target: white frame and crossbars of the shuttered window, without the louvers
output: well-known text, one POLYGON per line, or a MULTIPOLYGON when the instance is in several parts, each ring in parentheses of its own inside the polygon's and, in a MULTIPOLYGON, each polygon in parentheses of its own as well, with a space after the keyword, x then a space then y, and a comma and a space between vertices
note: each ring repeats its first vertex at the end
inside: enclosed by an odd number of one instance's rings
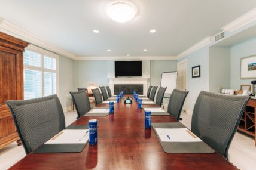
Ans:
POLYGON ((24 64, 24 68, 23 68, 23 72, 25 73, 25 69, 28 70, 36 70, 39 72, 42 72, 42 97, 44 97, 44 72, 48 72, 48 73, 56 73, 56 93, 59 96, 59 55, 44 50, 42 48, 39 48, 35 45, 28 45, 28 47, 25 48, 25 50, 28 51, 32 51, 32 52, 37 52, 39 54, 41 54, 41 67, 36 67, 36 66, 29 66, 29 65, 25 65, 24 64), (52 70, 52 69, 45 69, 44 68, 44 55, 47 55, 48 57, 52 57, 52 58, 56 58, 56 70, 52 70))

